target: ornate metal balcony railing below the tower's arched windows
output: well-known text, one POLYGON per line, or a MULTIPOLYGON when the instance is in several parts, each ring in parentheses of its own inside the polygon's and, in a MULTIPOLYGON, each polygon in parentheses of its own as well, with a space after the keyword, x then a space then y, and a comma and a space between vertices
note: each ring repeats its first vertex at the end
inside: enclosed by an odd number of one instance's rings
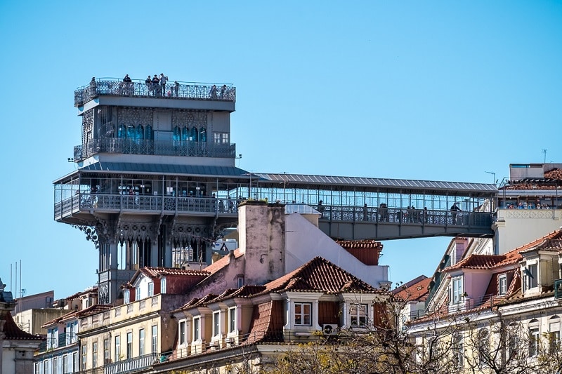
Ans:
POLYGON ((93 139, 74 147, 74 161, 83 161, 98 153, 155 154, 158 156, 195 156, 234 158, 234 144, 214 142, 133 140, 123 138, 93 139))

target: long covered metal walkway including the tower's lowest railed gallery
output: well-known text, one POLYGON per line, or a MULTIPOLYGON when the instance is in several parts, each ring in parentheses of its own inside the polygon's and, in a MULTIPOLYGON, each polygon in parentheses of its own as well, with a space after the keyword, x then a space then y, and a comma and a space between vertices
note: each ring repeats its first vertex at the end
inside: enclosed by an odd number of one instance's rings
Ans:
POLYGON ((170 175, 154 166, 150 172, 137 171, 144 173, 143 180, 135 180, 115 178, 118 168, 84 168, 55 182, 55 220, 84 225, 99 214, 188 215, 226 227, 235 225, 241 201, 260 199, 285 203, 287 209, 310 206, 320 213, 320 229, 334 239, 493 234, 497 188, 491 184, 263 174, 240 168, 170 175), (460 211, 450 210, 453 203, 460 211))

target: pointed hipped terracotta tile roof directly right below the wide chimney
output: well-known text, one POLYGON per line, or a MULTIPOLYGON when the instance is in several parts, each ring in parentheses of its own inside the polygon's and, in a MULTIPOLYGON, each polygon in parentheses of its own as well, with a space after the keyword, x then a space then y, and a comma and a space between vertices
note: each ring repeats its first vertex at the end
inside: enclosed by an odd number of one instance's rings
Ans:
POLYGON ((341 269, 341 267, 320 257, 313 258, 293 272, 266 283, 266 290, 263 290, 262 293, 289 290, 325 293, 381 292, 353 276, 353 274, 341 269))

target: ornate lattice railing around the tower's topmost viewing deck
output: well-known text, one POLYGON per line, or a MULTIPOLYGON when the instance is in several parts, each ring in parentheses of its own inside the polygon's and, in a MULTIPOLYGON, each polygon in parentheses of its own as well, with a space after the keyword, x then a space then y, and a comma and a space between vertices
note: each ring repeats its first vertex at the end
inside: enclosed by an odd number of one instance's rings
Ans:
POLYGON ((88 86, 74 91, 74 106, 102 95, 128 96, 135 98, 194 99, 214 101, 236 101, 236 88, 222 84, 181 83, 176 85, 147 84, 145 81, 125 83, 121 79, 97 79, 88 86))

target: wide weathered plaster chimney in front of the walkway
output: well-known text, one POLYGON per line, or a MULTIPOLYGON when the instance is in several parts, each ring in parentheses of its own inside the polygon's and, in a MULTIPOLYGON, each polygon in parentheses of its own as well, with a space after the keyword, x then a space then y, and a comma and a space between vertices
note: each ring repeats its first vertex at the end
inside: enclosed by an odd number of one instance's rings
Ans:
POLYGON ((244 283, 263 284, 285 274, 285 205, 248 200, 238 208, 244 283))

